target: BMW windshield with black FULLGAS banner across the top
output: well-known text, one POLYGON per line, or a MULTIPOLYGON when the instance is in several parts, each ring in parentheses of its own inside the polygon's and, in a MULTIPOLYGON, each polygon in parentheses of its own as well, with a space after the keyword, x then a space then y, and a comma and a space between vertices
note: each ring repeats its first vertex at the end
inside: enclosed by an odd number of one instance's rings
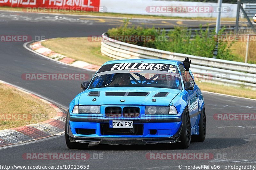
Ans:
POLYGON ((100 68, 89 89, 103 87, 158 87, 182 89, 176 66, 161 63, 118 63, 100 68))

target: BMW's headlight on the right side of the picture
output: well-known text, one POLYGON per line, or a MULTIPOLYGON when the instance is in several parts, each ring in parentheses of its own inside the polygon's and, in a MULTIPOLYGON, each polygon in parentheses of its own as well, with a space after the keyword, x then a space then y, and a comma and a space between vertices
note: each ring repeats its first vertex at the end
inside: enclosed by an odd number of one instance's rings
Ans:
POLYGON ((146 106, 145 114, 150 115, 175 115, 178 114, 174 106, 146 106))

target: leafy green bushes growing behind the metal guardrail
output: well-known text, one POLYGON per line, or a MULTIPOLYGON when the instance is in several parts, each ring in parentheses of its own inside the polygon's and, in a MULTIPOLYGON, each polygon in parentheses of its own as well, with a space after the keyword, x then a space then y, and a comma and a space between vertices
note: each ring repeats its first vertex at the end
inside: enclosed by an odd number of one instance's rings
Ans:
MULTIPOLYGON (((202 57, 213 57, 213 51, 216 46, 215 31, 209 29, 196 32, 194 37, 191 37, 191 30, 186 27, 175 27, 172 31, 166 32, 160 29, 143 28, 141 26, 128 27, 129 20, 124 20, 124 25, 108 30, 110 38, 135 44, 138 46, 156 48, 164 51, 176 53, 184 53, 202 57), (130 41, 124 39, 124 36, 149 36, 149 39, 140 41, 130 41)), ((222 28, 219 34, 223 34, 225 28, 222 28)), ((230 53, 230 46, 227 42, 218 42, 218 54, 216 58, 223 60, 237 60, 237 57, 230 53)))

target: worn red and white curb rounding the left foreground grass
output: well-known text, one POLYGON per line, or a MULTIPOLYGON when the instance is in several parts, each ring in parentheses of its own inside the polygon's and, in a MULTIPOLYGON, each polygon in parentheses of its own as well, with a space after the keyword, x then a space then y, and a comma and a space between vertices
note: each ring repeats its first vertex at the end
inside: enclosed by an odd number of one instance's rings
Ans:
POLYGON ((52 104, 44 100, 43 98, 29 93, 25 90, 12 86, 4 81, 0 81, 0 83, 11 86, 23 93, 36 97, 43 103, 51 105, 57 111, 56 117, 53 117, 44 122, 39 122, 36 124, 30 124, 12 129, 0 130, 0 147, 47 138, 53 135, 61 134, 65 131, 66 114, 63 113, 62 110, 55 104, 52 104))

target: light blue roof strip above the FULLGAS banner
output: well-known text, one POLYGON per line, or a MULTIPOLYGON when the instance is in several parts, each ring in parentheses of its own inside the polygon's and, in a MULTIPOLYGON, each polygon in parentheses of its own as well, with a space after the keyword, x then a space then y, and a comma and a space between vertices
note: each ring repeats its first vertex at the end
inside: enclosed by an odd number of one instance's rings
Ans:
POLYGON ((181 61, 176 60, 161 60, 161 59, 127 59, 127 60, 111 60, 105 62, 103 65, 107 64, 116 64, 116 63, 137 63, 137 62, 147 62, 147 63, 161 63, 161 64, 171 64, 178 66, 179 64, 182 64, 181 61))

